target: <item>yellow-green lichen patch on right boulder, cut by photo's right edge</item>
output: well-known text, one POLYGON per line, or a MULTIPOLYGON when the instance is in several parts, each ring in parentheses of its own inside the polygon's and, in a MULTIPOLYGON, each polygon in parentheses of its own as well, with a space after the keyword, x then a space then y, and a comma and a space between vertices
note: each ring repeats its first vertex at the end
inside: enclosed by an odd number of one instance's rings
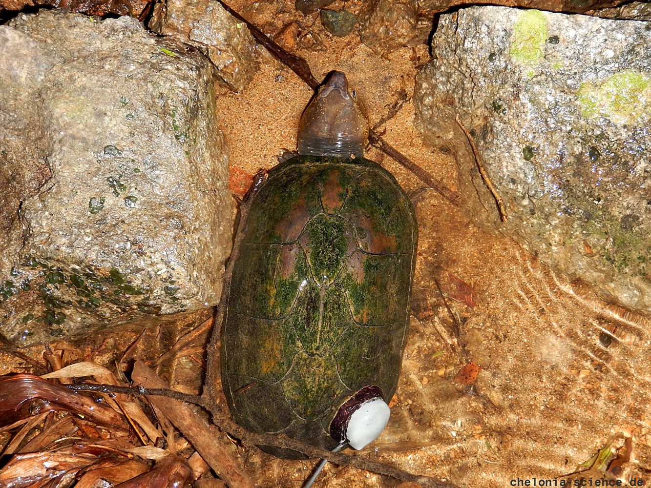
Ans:
POLYGON ((651 78, 626 70, 603 80, 581 83, 577 90, 585 118, 602 116, 615 124, 642 124, 651 118, 651 78))

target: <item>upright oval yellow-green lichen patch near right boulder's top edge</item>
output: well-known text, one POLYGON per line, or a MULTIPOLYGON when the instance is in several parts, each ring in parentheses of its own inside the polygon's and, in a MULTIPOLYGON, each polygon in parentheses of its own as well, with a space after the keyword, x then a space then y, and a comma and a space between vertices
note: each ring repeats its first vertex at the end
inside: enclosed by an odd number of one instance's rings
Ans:
POLYGON ((540 10, 525 10, 513 27, 510 55, 523 64, 537 64, 544 56, 547 18, 540 10))

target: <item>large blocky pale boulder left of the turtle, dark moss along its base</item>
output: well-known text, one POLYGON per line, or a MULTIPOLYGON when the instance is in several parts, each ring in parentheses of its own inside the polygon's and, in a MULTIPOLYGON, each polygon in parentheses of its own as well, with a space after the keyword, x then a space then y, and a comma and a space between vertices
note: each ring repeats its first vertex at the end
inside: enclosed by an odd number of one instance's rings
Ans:
POLYGON ((0 333, 22 344, 213 305, 232 199, 210 62, 135 19, 0 26, 0 333))

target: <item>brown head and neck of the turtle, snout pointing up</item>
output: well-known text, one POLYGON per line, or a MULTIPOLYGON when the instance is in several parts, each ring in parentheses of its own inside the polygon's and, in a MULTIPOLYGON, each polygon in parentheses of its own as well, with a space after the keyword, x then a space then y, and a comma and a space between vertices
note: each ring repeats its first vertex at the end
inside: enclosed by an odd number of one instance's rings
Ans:
POLYGON ((362 157, 367 139, 368 122, 357 94, 346 75, 333 71, 301 116, 298 154, 362 157))

